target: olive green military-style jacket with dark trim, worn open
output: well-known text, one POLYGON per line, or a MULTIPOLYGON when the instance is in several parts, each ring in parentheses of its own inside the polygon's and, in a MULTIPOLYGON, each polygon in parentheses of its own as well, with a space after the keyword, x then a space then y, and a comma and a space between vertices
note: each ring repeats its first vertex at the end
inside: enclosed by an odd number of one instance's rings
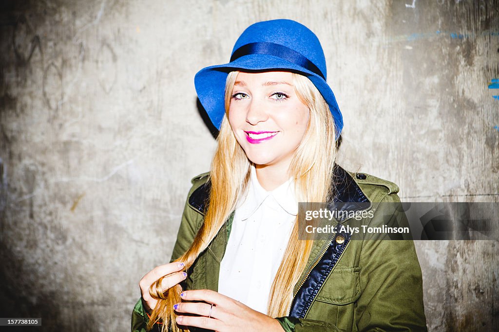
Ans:
MULTIPOLYGON (((203 223, 210 190, 208 175, 192 180, 172 259, 189 248, 203 223)), ((360 202, 359 207, 350 208, 373 211, 372 218, 362 219, 361 224, 407 225, 403 210, 394 208, 400 203, 394 183, 346 172, 339 166, 333 178, 337 202, 360 202), (385 204, 390 202, 394 204, 385 204)), ((233 216, 188 271, 187 289, 218 290, 220 261, 233 216)), ((341 224, 358 225, 359 221, 347 218, 341 224)), ((276 318, 284 331, 427 331, 421 268, 412 240, 380 240, 368 233, 354 234, 352 239, 348 232, 336 232, 314 240, 307 265, 295 285, 288 316, 276 318)), ((132 331, 146 331, 147 321, 139 300, 133 310, 132 331)))

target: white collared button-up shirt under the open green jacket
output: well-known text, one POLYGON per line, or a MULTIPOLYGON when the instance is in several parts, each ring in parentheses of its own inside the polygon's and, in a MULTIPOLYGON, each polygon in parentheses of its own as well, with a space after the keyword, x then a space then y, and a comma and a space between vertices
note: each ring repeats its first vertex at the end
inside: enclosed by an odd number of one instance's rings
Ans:
POLYGON ((239 200, 220 264, 219 293, 267 313, 268 296, 298 213, 294 182, 268 192, 254 166, 246 195, 239 200))

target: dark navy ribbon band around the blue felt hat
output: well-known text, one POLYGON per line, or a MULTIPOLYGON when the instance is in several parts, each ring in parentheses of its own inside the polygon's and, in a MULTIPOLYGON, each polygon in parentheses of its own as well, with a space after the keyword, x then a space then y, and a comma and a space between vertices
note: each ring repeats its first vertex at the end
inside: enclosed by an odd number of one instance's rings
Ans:
POLYGON ((308 60, 295 50, 290 49, 289 47, 275 43, 261 41, 243 45, 236 51, 234 51, 231 57, 231 62, 241 58, 242 56, 250 54, 266 54, 276 56, 283 60, 294 63, 295 65, 298 65, 302 68, 305 68, 306 70, 311 71, 312 73, 315 73, 326 80, 325 75, 323 75, 320 69, 317 68, 317 66, 314 65, 310 60, 308 60))

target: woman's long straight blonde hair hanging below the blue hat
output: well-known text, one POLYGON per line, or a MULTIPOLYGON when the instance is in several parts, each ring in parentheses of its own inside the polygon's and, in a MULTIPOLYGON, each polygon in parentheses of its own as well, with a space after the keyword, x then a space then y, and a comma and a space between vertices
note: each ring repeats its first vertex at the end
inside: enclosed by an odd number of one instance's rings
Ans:
MULTIPOLYGON (((176 262, 184 262, 186 268, 208 247, 230 214, 238 198, 244 193, 250 177, 250 161, 239 145, 228 120, 231 94, 239 72, 230 72, 225 92, 226 116, 217 138, 218 147, 211 165, 210 204, 204 223, 191 247, 176 262)), ((298 145, 289 167, 289 176, 295 181, 298 202, 325 202, 332 194, 332 169, 336 157, 336 127, 324 98, 305 76, 293 73, 295 92, 300 101, 310 109, 310 117, 302 141, 298 145)), ((269 294, 267 313, 270 317, 282 317, 289 313, 293 288, 306 268, 312 240, 298 239, 298 222, 294 223, 284 257, 277 270, 269 294)), ((181 302, 182 288, 176 285, 167 292, 166 299, 158 300, 149 324, 162 320, 162 331, 171 328, 183 331, 175 323, 173 305, 181 302)))

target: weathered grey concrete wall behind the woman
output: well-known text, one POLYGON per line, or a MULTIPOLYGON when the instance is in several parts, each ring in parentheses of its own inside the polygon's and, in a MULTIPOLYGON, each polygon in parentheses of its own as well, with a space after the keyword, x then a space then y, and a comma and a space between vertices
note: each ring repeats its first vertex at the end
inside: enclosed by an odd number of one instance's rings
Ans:
MULTIPOLYGON (((499 201, 499 2, 0 4, 0 316, 127 331, 169 260, 215 142, 193 78, 242 30, 292 18, 322 41, 340 163, 404 201, 499 201), (494 97, 496 96, 496 97, 494 97)), ((498 243, 418 242, 431 331, 498 331, 498 243)))

